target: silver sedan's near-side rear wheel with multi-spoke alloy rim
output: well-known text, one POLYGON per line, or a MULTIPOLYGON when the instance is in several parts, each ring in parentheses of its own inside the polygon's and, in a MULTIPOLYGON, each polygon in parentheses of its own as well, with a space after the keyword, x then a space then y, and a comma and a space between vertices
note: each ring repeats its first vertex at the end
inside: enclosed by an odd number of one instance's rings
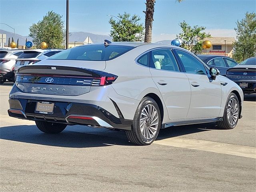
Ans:
POLYGON ((158 104, 154 99, 145 97, 138 105, 131 130, 126 130, 126 136, 136 145, 150 145, 156 140, 161 123, 158 104))

